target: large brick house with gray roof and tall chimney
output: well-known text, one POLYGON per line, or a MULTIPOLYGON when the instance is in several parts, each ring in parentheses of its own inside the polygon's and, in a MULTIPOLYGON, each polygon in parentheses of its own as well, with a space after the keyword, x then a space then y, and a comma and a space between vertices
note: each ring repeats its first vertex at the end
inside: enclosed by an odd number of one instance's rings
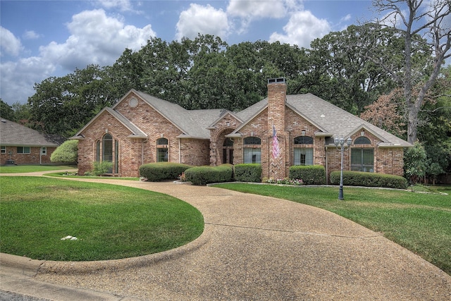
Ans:
POLYGON ((171 161, 259 163, 263 177, 285 178, 292 165, 320 164, 327 175, 340 170, 335 137, 352 139, 345 170, 402 176, 404 148, 412 145, 313 94, 286 95, 284 78, 268 80, 268 97, 240 112, 185 110, 130 90, 70 139, 79 140, 80 175, 94 161, 113 162, 114 176, 139 176, 142 164, 171 161))

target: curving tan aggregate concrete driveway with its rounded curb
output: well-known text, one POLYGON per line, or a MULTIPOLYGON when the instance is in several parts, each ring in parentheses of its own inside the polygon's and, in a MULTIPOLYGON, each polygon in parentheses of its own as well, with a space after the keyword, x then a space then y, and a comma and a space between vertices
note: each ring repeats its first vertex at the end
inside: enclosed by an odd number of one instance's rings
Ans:
MULTIPOLYGON (((450 276, 328 211, 219 188, 94 181, 183 199, 202 212, 205 231, 188 245, 144 257, 32 261, 31 269, 16 269, 25 280, 93 294, 78 300, 451 300, 450 276)), ((15 291, 5 287, 1 257, 0 289, 15 291)))

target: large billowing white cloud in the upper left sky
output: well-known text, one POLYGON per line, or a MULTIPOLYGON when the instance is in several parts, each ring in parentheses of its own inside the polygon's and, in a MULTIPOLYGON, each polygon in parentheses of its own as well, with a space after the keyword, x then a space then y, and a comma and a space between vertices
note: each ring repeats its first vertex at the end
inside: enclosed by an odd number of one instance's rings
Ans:
POLYGON ((39 51, 43 58, 68 70, 85 68, 91 63, 111 65, 125 48, 140 49, 156 35, 151 25, 143 28, 124 25, 122 20, 106 16, 102 9, 78 13, 67 26, 71 35, 66 42, 51 42, 39 51))

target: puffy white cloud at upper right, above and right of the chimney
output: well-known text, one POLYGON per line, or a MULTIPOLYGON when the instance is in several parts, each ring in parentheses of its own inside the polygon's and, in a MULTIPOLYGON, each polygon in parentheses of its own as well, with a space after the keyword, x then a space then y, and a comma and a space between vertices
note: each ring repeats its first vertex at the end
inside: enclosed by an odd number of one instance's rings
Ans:
POLYGON ((273 32, 269 42, 296 44, 299 47, 310 47, 310 42, 330 32, 327 20, 316 18, 310 11, 292 13, 287 25, 283 27, 285 34, 273 32))

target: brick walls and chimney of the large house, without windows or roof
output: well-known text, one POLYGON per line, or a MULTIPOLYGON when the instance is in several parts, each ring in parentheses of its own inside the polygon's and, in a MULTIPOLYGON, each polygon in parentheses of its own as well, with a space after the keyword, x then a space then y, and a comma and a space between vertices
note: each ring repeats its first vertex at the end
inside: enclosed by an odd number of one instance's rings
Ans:
MULTIPOLYGON (((295 164, 295 149, 308 148, 309 152, 311 149, 313 153, 313 164, 325 166, 328 177, 331 171, 339 171, 340 151, 331 142, 336 135, 328 133, 321 128, 322 125, 312 122, 311 119, 304 118, 299 113, 304 106, 298 105, 296 107, 298 111, 291 109, 292 106, 288 106, 286 99, 285 80, 268 81, 266 106, 257 106, 254 115, 250 117, 247 112, 245 116, 248 120, 240 120, 240 113, 223 113, 214 124, 204 127, 209 130, 209 137, 203 138, 187 135, 185 130, 171 120, 167 111, 166 115, 162 114, 155 109, 152 99, 144 99, 142 95, 132 90, 113 109, 145 133, 145 136, 132 137, 130 127, 128 128, 124 121, 119 121, 122 117, 118 118, 112 116, 109 111, 103 111, 75 137, 80 140, 79 173, 82 175, 92 169, 97 154, 103 152, 101 141, 106 133, 113 137, 113 163, 116 164, 118 161, 117 171, 113 172, 115 176, 139 176, 139 166, 157 161, 160 147, 167 148, 168 161, 192 166, 217 166, 229 162, 241 164, 244 162, 245 148, 259 148, 262 176, 278 179, 288 177, 290 166, 295 164), (134 105, 130 105, 129 102, 132 98, 137 99, 134 105), (276 129, 280 149, 276 157, 272 155, 273 128, 276 129), (313 143, 295 144, 295 138, 302 136, 308 137, 313 143), (258 137, 261 145, 243 145, 243 140, 247 137, 258 137), (157 145, 160 138, 166 138, 168 145, 157 145)), ((162 101, 159 102, 161 105, 162 101)), ((307 106, 308 104, 306 103, 307 106)), ((178 122, 183 123, 180 119, 178 122)), ((364 121, 361 124, 363 123, 364 121)), ((362 128, 350 134, 353 143, 345 150, 344 169, 351 169, 351 149, 369 147, 373 149, 374 172, 402 176, 403 147, 384 142, 378 135, 371 133, 368 126, 362 125, 362 128), (371 143, 354 145, 358 137, 366 137, 371 143)))

